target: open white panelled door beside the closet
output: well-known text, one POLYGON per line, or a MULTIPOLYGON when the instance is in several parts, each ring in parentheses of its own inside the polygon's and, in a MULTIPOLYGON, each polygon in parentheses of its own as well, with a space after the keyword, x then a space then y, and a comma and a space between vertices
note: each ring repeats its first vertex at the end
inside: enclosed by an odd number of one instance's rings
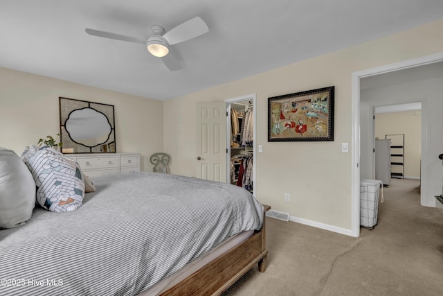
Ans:
POLYGON ((196 176, 226 183, 226 103, 197 103, 196 176))

